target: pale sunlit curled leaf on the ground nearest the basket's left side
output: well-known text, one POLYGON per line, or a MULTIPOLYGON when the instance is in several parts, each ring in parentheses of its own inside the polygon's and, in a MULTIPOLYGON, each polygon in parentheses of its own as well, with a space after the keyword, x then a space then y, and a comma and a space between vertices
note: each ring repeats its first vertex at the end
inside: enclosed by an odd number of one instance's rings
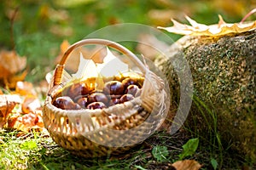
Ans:
POLYGON ((22 113, 35 113, 41 110, 41 104, 39 99, 33 95, 27 95, 21 105, 22 113))

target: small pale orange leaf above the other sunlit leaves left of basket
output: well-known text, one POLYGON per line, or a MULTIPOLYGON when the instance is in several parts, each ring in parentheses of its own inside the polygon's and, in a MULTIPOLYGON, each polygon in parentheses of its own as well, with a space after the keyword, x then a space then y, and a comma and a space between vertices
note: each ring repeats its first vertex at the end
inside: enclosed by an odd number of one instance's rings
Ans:
POLYGON ((20 95, 37 95, 31 82, 16 82, 15 92, 20 95))

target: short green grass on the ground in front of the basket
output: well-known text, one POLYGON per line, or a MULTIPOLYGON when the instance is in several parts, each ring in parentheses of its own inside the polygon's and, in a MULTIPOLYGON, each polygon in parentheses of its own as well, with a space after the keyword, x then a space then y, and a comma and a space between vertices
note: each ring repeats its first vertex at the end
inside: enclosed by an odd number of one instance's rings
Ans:
POLYGON ((1 169, 142 169, 174 162, 182 153, 183 145, 183 137, 159 132, 124 155, 81 159, 42 133, 28 133, 20 137, 17 134, 16 131, 3 130, 0 133, 3 140, 0 144, 1 169), (168 155, 165 160, 158 160, 152 154, 154 146, 160 145, 166 145, 168 155))

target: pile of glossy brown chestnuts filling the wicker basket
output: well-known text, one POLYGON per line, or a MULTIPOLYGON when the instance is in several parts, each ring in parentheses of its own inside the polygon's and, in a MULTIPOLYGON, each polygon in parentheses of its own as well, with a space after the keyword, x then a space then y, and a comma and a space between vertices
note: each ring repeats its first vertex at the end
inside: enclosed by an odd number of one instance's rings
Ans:
POLYGON ((103 109, 122 104, 141 94, 143 77, 113 78, 96 90, 95 80, 76 82, 64 88, 53 99, 53 105, 62 110, 103 109))

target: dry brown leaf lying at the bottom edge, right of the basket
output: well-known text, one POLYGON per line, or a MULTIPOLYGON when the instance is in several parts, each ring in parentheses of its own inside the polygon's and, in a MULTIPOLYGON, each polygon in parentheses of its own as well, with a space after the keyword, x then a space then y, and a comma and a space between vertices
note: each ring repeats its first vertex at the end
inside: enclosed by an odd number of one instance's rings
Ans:
POLYGON ((172 163, 172 166, 177 170, 198 170, 202 166, 195 160, 183 160, 172 163))

